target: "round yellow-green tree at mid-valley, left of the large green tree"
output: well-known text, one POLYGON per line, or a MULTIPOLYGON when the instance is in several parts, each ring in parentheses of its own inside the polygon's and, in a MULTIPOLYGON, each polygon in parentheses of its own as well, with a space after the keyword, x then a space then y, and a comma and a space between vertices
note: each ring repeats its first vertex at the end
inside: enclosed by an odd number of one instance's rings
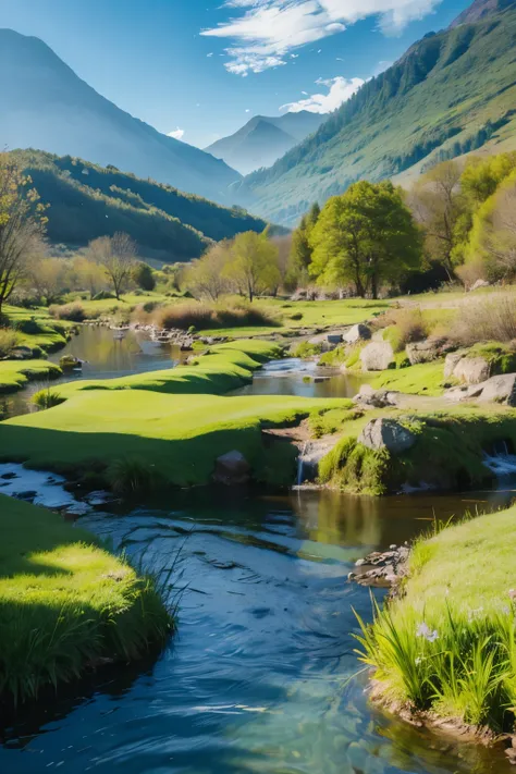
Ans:
POLYGON ((245 231, 233 239, 225 277, 238 293, 253 302, 258 293, 279 285, 278 255, 278 247, 267 238, 267 234, 245 231))

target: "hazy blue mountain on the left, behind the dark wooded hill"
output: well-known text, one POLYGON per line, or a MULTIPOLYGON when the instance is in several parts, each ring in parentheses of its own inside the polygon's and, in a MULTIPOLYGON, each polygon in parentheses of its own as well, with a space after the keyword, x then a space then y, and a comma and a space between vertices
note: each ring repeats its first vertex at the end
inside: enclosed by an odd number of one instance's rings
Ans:
POLYGON ((42 40, 0 29, 0 147, 42 148, 114 164, 217 201, 235 170, 157 132, 101 97, 42 40))

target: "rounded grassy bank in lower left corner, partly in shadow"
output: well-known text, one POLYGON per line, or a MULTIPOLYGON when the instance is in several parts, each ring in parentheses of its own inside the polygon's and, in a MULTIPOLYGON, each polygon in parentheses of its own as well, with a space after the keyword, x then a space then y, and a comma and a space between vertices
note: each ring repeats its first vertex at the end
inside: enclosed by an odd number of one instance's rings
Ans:
POLYGON ((172 621, 149 578, 46 508, 0 495, 0 696, 22 701, 99 659, 135 659, 172 621))

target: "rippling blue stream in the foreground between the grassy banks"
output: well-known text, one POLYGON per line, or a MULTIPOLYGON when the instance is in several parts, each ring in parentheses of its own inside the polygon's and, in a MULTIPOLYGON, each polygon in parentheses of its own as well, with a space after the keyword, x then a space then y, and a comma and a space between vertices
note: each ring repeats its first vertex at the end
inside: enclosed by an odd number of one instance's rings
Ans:
MULTIPOLYGON (((146 357, 163 367, 140 348, 138 364, 146 357)), ((270 364, 256 392, 327 384, 304 381, 312 366, 303 366, 308 373, 298 363, 270 364)), ((137 566, 162 577, 174 566, 177 634, 158 656, 106 667, 20 711, 0 730, 0 772, 508 774, 502 752, 368 704, 353 634, 354 610, 370 618, 371 600, 347 575, 357 558, 410 540, 434 517, 513 496, 507 483, 466 495, 197 489, 145 507, 93 503, 77 524, 137 566)))

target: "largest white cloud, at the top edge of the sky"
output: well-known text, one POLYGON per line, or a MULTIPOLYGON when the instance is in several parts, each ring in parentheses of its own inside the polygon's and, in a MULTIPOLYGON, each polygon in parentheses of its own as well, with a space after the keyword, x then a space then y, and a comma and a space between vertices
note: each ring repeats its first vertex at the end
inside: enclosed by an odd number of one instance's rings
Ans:
POLYGON ((248 75, 286 64, 291 51, 344 32, 346 25, 380 16, 386 35, 400 33, 408 22, 422 19, 442 0, 226 0, 224 7, 241 15, 201 35, 228 38, 230 73, 248 75))

